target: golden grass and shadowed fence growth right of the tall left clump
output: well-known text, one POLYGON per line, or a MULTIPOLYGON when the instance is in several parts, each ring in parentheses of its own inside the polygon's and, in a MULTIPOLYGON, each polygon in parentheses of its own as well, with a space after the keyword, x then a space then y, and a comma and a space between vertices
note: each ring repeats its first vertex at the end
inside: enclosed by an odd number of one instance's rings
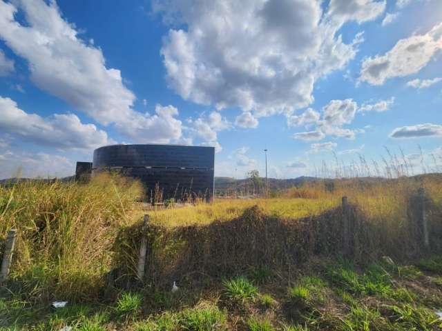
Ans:
POLYGON ((119 237, 119 261, 135 270, 140 236, 149 239, 148 277, 158 283, 203 272, 212 277, 260 263, 290 270, 321 255, 343 254, 342 197, 354 227, 349 258, 394 261, 442 250, 442 176, 398 179, 336 179, 306 183, 277 199, 222 199, 212 204, 155 210, 147 233, 140 225, 119 237), (430 249, 419 223, 419 188, 426 192, 430 249))

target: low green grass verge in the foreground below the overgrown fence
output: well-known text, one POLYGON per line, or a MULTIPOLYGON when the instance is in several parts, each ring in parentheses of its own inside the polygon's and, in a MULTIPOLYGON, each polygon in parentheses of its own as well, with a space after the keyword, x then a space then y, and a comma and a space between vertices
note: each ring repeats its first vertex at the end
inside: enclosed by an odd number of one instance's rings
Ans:
POLYGON ((265 267, 198 288, 137 288, 57 310, 0 299, 1 330, 441 330, 442 257, 416 265, 313 261, 293 279, 265 267))

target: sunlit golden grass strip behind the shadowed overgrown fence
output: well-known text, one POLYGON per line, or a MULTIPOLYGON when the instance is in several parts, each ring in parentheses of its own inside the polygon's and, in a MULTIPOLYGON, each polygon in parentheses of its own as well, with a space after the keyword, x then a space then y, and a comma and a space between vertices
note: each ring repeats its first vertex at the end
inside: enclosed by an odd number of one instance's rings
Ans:
MULTIPOLYGON (((398 225, 407 217, 407 205, 420 187, 436 205, 442 204, 442 180, 428 177, 421 180, 403 178, 394 180, 345 179, 309 183, 301 188, 291 188, 273 199, 215 199, 213 203, 198 203, 185 207, 148 211, 151 222, 167 227, 207 225, 213 221, 230 221, 240 217, 244 209, 258 205, 266 214, 282 219, 300 219, 316 216, 336 208, 343 196, 358 205, 372 221, 398 225)), ((135 218, 144 213, 139 210, 135 218)))

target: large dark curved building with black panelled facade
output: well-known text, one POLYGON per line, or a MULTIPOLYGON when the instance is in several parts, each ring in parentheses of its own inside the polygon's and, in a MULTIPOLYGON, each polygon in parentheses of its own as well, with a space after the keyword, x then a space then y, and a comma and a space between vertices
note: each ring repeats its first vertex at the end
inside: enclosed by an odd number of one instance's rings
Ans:
POLYGON ((213 199, 215 148, 113 145, 97 148, 93 174, 116 170, 142 181, 149 199, 213 199))

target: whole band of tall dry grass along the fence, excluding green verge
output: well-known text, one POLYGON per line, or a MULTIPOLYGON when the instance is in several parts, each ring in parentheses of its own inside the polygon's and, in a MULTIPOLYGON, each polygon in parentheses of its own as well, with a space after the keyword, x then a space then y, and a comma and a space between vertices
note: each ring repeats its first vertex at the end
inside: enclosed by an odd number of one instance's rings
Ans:
MULTIPOLYGON (((339 254, 343 196, 357 213, 356 258, 413 257, 421 244, 410 201, 421 187, 427 192, 432 248, 441 248, 440 175, 324 180, 274 199, 151 210, 147 268, 169 281, 202 268, 217 274, 248 267, 241 261, 286 268, 312 254, 339 254)), ((18 230, 10 290, 32 299, 96 299, 112 268, 124 269, 126 263, 126 271, 135 272, 144 235, 137 220, 146 210, 134 202, 142 193, 137 181, 111 174, 85 185, 20 181, 0 187, 0 254, 7 230, 18 230)))

